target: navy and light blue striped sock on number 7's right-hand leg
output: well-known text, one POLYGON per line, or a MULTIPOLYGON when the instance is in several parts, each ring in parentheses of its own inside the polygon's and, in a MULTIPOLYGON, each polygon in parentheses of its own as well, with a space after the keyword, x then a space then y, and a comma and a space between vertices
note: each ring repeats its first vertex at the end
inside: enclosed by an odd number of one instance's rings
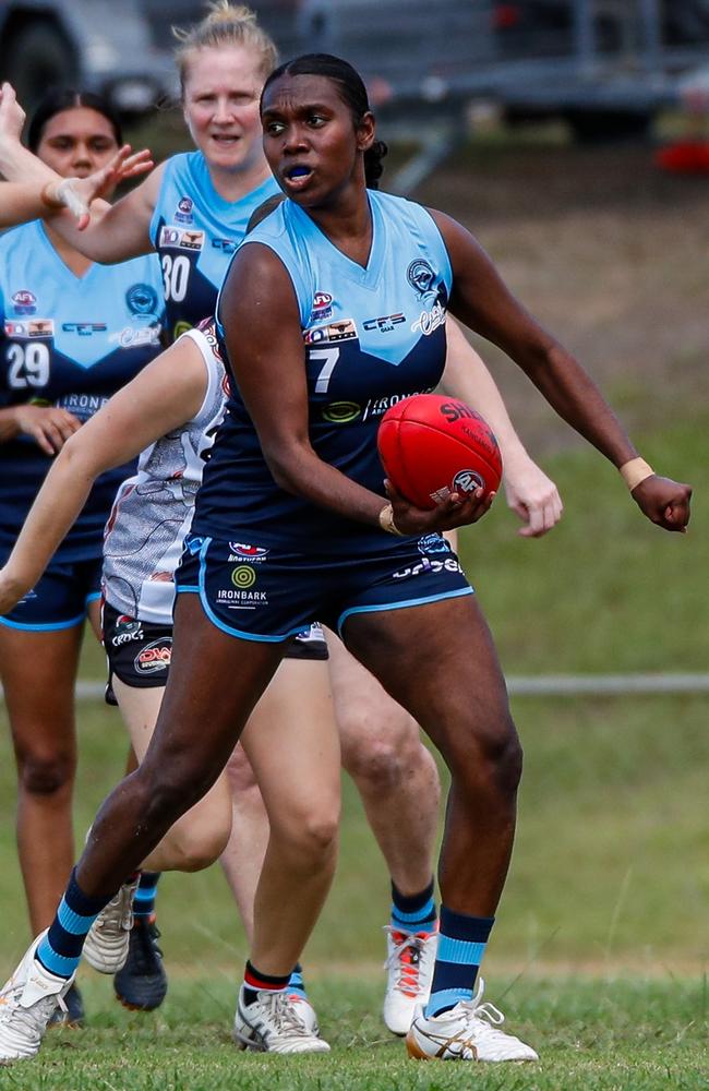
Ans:
POLYGON ((494 916, 467 916, 441 907, 438 950, 425 1016, 437 1016, 471 1000, 494 916))

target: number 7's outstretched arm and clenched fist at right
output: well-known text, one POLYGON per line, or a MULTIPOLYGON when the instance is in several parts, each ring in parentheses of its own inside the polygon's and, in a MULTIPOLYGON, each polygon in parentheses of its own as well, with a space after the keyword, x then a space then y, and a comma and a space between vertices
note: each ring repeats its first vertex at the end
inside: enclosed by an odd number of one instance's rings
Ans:
MULTIPOLYGON (((635 461, 638 459, 636 448, 580 363, 515 299, 469 231, 444 213, 432 212, 432 216, 445 241, 453 268, 452 313, 502 348, 560 417, 614 466, 618 469, 629 464, 639 466, 635 461)), ((632 484, 632 495, 652 523, 665 530, 686 528, 692 496, 689 485, 650 471, 632 484)))

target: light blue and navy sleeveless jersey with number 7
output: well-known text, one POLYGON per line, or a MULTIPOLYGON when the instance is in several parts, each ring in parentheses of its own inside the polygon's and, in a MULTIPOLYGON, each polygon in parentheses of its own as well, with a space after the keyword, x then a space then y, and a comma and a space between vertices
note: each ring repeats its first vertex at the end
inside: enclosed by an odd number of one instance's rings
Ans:
MULTIPOLYGON (((443 373, 452 271, 443 238, 424 208, 378 192, 369 197, 373 238, 366 268, 337 250, 291 201, 242 245, 269 247, 292 280, 315 453, 383 496, 376 430, 389 406, 432 391, 443 373)), ((275 311, 273 321, 278 321, 275 311)), ((381 551, 385 536, 378 528, 278 488, 233 376, 231 387, 192 532, 229 538, 239 530, 260 544, 286 541, 319 552, 381 551)), ((277 404, 272 412, 278 412, 277 404)))

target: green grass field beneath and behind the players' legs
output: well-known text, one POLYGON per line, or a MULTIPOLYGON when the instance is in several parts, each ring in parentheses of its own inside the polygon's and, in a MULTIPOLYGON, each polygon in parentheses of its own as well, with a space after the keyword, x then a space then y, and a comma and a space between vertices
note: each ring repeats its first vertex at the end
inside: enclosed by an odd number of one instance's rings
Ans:
MULTIPOLYGON (((466 531, 466 564, 510 673, 707 669, 708 421, 701 423, 644 437, 650 459, 698 487, 686 537, 646 525, 603 460, 577 451, 546 467, 567 503, 552 536, 516 539, 500 501, 466 531)), ((88 644, 84 673, 101 671, 88 644)), ((164 1009, 130 1015, 109 982, 83 971, 89 1027, 53 1033, 36 1062, 0 1071, 0 1088, 706 1088, 708 704, 699 695, 513 703, 526 750, 520 823, 484 973, 491 999, 540 1050, 540 1066, 471 1074, 467 1066, 417 1065, 386 1035, 378 1008, 387 882, 345 782, 340 864, 304 959, 331 1057, 235 1051, 229 1027, 247 950, 213 867, 163 879, 171 976, 164 1009)), ((120 777, 125 752, 115 710, 85 704, 80 720, 79 835, 120 777)), ((0 975, 28 938, 14 798, 3 727, 0 975)))

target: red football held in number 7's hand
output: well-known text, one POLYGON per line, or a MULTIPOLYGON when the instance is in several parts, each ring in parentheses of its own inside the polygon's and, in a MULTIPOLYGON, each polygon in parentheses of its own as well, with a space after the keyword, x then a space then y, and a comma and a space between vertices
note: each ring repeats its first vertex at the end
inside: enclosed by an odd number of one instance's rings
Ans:
POLYGON ((417 507, 435 507, 452 492, 500 488, 497 441, 480 413, 458 398, 404 398, 382 417, 376 442, 387 478, 417 507))

